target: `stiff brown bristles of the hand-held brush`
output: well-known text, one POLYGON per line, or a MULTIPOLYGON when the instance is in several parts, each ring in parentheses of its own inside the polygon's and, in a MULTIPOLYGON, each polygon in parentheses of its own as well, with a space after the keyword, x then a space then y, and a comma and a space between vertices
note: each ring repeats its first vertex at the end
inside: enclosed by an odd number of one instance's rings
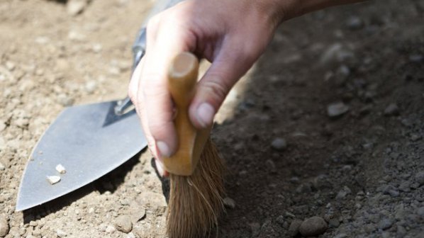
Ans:
POLYGON ((225 166, 209 138, 191 176, 170 175, 169 238, 206 237, 223 212, 225 166))

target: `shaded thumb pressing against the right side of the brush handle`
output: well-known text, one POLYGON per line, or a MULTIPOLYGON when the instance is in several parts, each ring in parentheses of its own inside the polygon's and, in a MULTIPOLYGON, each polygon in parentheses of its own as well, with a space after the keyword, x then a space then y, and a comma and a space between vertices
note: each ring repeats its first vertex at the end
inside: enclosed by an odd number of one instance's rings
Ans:
POLYGON ((213 117, 230 89, 252 67, 253 62, 251 55, 240 45, 223 44, 211 67, 197 84, 196 94, 191 101, 189 116, 196 128, 212 125, 213 117))

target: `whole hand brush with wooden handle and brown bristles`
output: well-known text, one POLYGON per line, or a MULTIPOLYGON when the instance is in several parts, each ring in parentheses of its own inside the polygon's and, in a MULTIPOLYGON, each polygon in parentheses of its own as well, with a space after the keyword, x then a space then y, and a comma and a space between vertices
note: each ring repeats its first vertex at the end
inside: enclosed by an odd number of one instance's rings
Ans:
POLYGON ((198 71, 197 57, 183 52, 174 58, 168 72, 167 84, 177 108, 174 125, 179 142, 177 152, 164 158, 170 179, 169 238, 207 237, 213 227, 218 227, 218 217, 224 210, 225 166, 209 137, 211 128, 196 130, 189 119, 198 71))

